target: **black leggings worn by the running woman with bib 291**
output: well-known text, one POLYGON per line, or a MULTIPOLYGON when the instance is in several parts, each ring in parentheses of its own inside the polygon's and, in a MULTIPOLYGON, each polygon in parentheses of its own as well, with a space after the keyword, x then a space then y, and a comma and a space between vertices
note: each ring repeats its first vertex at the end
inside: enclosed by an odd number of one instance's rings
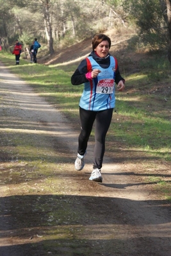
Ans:
POLYGON ((84 155, 88 144, 90 133, 95 121, 95 147, 94 147, 94 169, 102 167, 102 160, 105 151, 105 138, 110 127, 113 108, 102 111, 90 111, 79 107, 81 120, 81 132, 78 137, 77 152, 84 155))

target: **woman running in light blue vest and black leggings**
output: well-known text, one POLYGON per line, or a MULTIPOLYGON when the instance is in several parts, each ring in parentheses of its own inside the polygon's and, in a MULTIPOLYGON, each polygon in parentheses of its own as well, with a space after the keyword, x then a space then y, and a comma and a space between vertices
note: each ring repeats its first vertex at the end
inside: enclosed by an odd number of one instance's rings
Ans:
POLYGON ((106 133, 115 108, 115 83, 118 91, 125 88, 125 80, 120 75, 117 59, 109 53, 110 47, 110 37, 104 34, 95 35, 92 39, 92 53, 81 61, 71 77, 72 85, 85 85, 79 101, 81 132, 75 167, 80 171, 85 166, 86 148, 95 121, 94 164, 89 178, 95 182, 102 182, 101 168, 106 133))

